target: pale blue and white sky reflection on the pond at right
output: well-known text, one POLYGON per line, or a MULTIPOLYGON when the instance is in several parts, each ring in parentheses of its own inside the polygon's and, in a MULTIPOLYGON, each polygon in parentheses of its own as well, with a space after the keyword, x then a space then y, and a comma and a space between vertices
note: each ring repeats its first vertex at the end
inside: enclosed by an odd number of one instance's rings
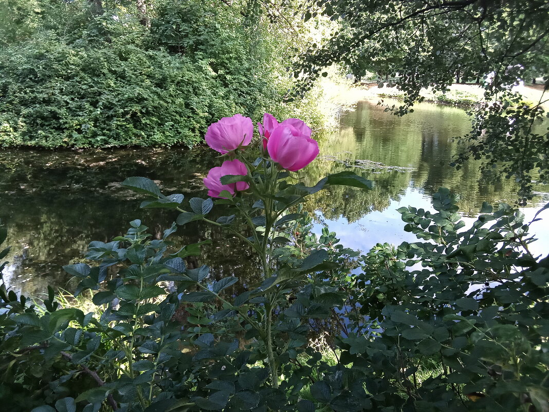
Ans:
MULTIPOLYGON (((408 188, 402 194, 400 201, 391 200, 389 207, 383 211, 371 211, 352 223, 349 223, 343 216, 340 216, 337 220, 325 219, 325 221, 330 230, 337 234, 343 246, 367 252, 376 243, 386 242, 399 245, 402 242, 418 241, 412 233, 404 231, 405 222, 402 221, 400 213, 396 211, 396 209, 403 206, 413 206, 418 209, 430 210, 433 213, 436 212, 430 199, 425 197, 421 190, 408 188)), ((524 221, 526 223, 530 222, 540 207, 521 208, 520 210, 525 215, 524 221)), ((320 211, 316 213, 322 216, 320 211)), ((543 255, 545 257, 549 253, 549 210, 543 211, 538 217, 542 220, 534 222, 530 226, 530 233, 536 236, 537 241, 531 244, 529 248, 534 256, 543 255)), ((467 217, 462 217, 462 219, 466 223, 466 228, 470 227, 476 220, 467 217)), ((486 227, 489 227, 489 224, 486 227)), ((320 235, 321 231, 322 225, 315 224, 313 232, 320 235)))

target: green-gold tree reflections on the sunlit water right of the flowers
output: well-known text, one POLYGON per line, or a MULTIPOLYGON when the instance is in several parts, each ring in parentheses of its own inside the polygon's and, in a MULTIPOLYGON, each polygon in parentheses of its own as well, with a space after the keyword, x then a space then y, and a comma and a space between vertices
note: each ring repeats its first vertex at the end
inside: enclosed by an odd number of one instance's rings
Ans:
MULTIPOLYGON (((386 101, 385 103, 389 103, 386 101)), ((392 104, 389 103, 389 104, 392 104)), ((360 102, 355 112, 341 119, 339 133, 324 138, 321 154, 335 154, 335 161, 321 158, 307 169, 307 181, 341 170, 352 170, 376 183, 371 192, 333 187, 312 196, 309 208, 320 209, 327 218, 345 216, 355 221, 370 210, 383 210, 398 199, 410 184, 427 196, 442 186, 461 196, 463 213, 478 213, 482 202, 514 202, 516 186, 511 181, 494 181, 479 171, 480 162, 470 160, 460 170, 449 166, 457 152, 453 137, 468 132, 465 112, 452 107, 418 104, 415 112, 403 117, 384 112, 373 102, 360 102), (388 166, 412 166, 412 171, 385 168, 357 168, 357 159, 388 166)), ((540 188, 540 191, 543 191, 540 188)))

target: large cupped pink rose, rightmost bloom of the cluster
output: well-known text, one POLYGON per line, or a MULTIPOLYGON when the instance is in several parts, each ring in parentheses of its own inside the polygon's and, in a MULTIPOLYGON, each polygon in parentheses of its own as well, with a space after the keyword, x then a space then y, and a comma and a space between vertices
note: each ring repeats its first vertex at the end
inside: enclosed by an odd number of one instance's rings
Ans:
POLYGON ((311 163, 318 155, 318 143, 311 138, 311 129, 299 119, 284 120, 271 134, 267 151, 284 169, 297 171, 311 163), (299 123, 301 122, 301 123, 299 123), (295 124, 298 127, 295 127, 295 124))

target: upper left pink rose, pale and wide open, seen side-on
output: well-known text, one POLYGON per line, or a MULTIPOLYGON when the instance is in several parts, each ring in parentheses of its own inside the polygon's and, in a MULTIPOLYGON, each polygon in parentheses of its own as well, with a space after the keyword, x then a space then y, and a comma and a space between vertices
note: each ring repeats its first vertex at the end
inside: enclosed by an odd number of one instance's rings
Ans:
POLYGON ((212 123, 206 131, 206 143, 221 154, 232 152, 240 146, 248 146, 254 135, 254 124, 250 118, 235 114, 212 123))

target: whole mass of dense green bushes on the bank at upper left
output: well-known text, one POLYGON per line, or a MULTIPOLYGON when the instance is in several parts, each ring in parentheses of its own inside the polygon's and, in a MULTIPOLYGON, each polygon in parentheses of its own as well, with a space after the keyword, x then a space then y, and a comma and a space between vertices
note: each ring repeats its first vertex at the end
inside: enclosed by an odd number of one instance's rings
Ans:
POLYGON ((158 1, 149 27, 130 5, 93 15, 90 4, 41 3, 19 31, 4 10, 0 146, 191 146, 235 112, 318 118, 314 101, 282 104, 288 40, 260 16, 158 1))

